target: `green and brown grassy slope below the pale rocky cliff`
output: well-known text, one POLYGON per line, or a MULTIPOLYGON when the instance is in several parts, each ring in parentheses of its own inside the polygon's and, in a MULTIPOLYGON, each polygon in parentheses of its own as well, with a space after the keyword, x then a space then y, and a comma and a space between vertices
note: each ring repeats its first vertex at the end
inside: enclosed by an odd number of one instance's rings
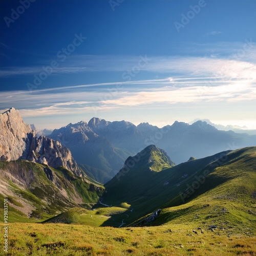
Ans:
POLYGON ((1 161, 0 177, 0 198, 9 200, 11 222, 48 219, 78 205, 91 208, 103 192, 103 186, 62 166, 54 169, 26 160, 1 161))

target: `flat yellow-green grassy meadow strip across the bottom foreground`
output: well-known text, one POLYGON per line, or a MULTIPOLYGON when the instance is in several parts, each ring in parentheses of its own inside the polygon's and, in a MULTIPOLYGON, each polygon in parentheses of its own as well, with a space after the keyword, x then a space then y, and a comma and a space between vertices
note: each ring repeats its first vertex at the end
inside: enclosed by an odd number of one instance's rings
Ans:
POLYGON ((2 246, 1 255, 256 255, 256 237, 193 224, 113 228, 10 223, 8 244, 8 254, 2 246))

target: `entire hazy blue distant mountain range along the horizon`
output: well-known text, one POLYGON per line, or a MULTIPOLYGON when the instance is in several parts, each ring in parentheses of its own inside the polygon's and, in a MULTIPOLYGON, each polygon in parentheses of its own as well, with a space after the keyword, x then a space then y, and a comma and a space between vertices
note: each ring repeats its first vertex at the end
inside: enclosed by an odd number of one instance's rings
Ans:
POLYGON ((161 129, 149 123, 134 125, 126 121, 92 118, 88 123, 68 124, 48 137, 67 146, 76 161, 91 178, 108 182, 125 159, 147 145, 155 144, 176 163, 193 156, 202 158, 225 150, 256 145, 256 135, 219 131, 205 121, 175 121, 161 129))

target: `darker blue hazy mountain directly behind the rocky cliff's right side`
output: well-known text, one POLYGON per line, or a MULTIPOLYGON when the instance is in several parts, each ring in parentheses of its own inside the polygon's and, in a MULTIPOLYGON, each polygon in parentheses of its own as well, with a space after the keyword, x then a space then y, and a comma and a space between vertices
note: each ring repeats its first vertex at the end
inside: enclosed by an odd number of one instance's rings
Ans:
POLYGON ((118 172, 130 153, 115 147, 106 139, 108 136, 103 137, 100 132, 96 134, 101 129, 101 125, 103 120, 101 124, 93 123, 93 120, 89 124, 83 121, 70 123, 55 129, 48 137, 67 146, 84 172, 97 181, 105 183, 118 172), (93 126, 94 124, 97 126, 93 126))

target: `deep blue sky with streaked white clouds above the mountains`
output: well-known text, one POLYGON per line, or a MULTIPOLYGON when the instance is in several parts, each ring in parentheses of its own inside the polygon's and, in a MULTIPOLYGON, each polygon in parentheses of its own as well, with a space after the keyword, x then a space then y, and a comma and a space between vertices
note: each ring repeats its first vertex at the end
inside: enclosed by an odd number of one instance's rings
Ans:
POLYGON ((0 0, 0 113, 256 129, 255 0, 0 0))

